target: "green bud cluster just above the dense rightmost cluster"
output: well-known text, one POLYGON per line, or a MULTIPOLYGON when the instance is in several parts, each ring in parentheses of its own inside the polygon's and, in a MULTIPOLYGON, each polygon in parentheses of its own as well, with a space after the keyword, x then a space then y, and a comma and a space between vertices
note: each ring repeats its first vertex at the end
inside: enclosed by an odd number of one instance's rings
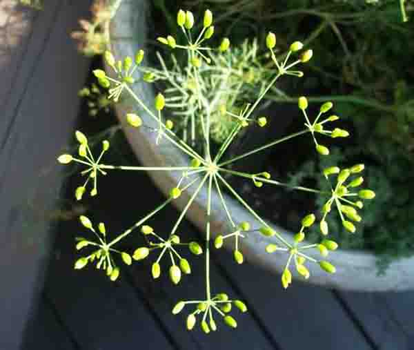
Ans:
POLYGON ((329 110, 331 110, 331 108, 333 107, 333 103, 332 102, 325 102, 324 104, 322 104, 321 108, 319 108, 319 113, 315 118, 315 121, 313 121, 313 123, 311 123, 311 121, 309 120, 308 114, 306 113, 306 108, 308 108, 308 99, 306 99, 306 97, 301 96, 299 97, 297 104, 299 106, 299 109, 302 110, 302 113, 306 119, 306 123, 305 126, 308 128, 308 130, 311 132, 312 137, 313 137, 313 142, 315 142, 315 148, 317 150, 317 153, 319 153, 320 155, 328 155, 329 154, 329 148, 319 144, 317 142, 317 139, 315 137, 315 133, 319 133, 322 135, 328 135, 331 136, 333 138, 335 137, 348 137, 349 133, 348 131, 344 130, 344 129, 340 129, 340 128, 334 128, 333 130, 325 130, 324 129, 324 124, 330 122, 330 121, 335 121, 338 120, 339 117, 337 115, 331 115, 329 117, 326 117, 324 120, 319 121, 320 117, 322 117, 322 115, 324 115, 324 113, 327 113, 329 110))

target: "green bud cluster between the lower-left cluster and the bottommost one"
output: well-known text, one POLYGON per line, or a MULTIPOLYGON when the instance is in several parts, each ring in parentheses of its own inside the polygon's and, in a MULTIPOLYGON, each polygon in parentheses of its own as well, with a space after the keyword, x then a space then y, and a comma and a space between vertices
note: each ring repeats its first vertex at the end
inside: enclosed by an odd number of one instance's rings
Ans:
POLYGON ((181 272, 189 275, 191 273, 191 267, 184 257, 178 253, 177 249, 181 246, 188 246, 190 252, 195 255, 200 255, 203 253, 203 249, 197 242, 190 242, 190 243, 181 243, 181 240, 178 235, 170 235, 167 240, 164 240, 161 236, 155 233, 154 229, 151 226, 144 225, 141 227, 141 233, 144 234, 146 240, 148 242, 148 246, 141 246, 137 248, 132 255, 134 260, 144 260, 151 251, 161 250, 157 260, 152 263, 151 273, 152 277, 157 279, 161 275, 161 262, 162 257, 167 253, 170 256, 171 266, 169 269, 170 280, 174 284, 178 284, 181 280, 181 272), (152 242, 152 240, 156 240, 157 242, 152 242), (176 260, 178 263, 176 263, 176 260))

